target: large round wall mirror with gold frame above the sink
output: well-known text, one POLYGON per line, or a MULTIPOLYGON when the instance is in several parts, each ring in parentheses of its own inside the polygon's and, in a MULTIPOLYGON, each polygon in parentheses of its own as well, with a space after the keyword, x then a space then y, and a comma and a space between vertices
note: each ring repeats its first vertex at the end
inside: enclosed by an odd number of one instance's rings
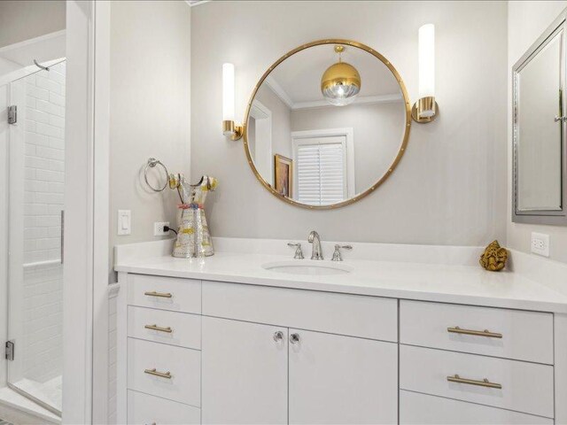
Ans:
POLYGON ((246 109, 245 152, 276 197, 338 208, 392 174, 410 126, 408 93, 390 61, 360 42, 321 40, 262 75, 246 109))

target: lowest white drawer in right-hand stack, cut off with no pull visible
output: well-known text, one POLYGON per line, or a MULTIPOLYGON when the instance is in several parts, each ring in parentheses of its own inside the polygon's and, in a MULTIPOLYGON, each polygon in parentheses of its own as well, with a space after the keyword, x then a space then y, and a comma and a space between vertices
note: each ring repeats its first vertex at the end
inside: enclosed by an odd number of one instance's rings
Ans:
POLYGON ((506 424, 552 425, 553 419, 400 391, 400 425, 506 424))

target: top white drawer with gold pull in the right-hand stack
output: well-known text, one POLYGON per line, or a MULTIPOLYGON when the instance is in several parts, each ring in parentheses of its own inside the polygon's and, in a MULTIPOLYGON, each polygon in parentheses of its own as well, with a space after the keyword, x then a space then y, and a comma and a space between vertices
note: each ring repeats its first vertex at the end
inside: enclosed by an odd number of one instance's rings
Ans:
POLYGON ((400 343, 553 364, 553 314, 401 300, 400 343))

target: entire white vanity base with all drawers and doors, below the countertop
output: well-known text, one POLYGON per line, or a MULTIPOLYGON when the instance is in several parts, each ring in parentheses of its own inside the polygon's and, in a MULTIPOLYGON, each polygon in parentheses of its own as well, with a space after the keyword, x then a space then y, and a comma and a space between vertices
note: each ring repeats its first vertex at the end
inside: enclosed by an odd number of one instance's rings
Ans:
POLYGON ((119 423, 565 423, 562 314, 144 274, 120 282, 119 423))

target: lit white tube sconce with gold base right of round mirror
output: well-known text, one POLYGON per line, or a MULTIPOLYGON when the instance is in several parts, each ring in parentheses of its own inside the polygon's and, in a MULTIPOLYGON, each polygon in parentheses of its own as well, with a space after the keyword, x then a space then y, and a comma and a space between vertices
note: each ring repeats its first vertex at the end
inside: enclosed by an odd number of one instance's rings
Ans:
POLYGON ((411 118, 426 123, 435 120, 439 105, 435 102, 435 26, 419 28, 419 100, 411 109, 411 118))

